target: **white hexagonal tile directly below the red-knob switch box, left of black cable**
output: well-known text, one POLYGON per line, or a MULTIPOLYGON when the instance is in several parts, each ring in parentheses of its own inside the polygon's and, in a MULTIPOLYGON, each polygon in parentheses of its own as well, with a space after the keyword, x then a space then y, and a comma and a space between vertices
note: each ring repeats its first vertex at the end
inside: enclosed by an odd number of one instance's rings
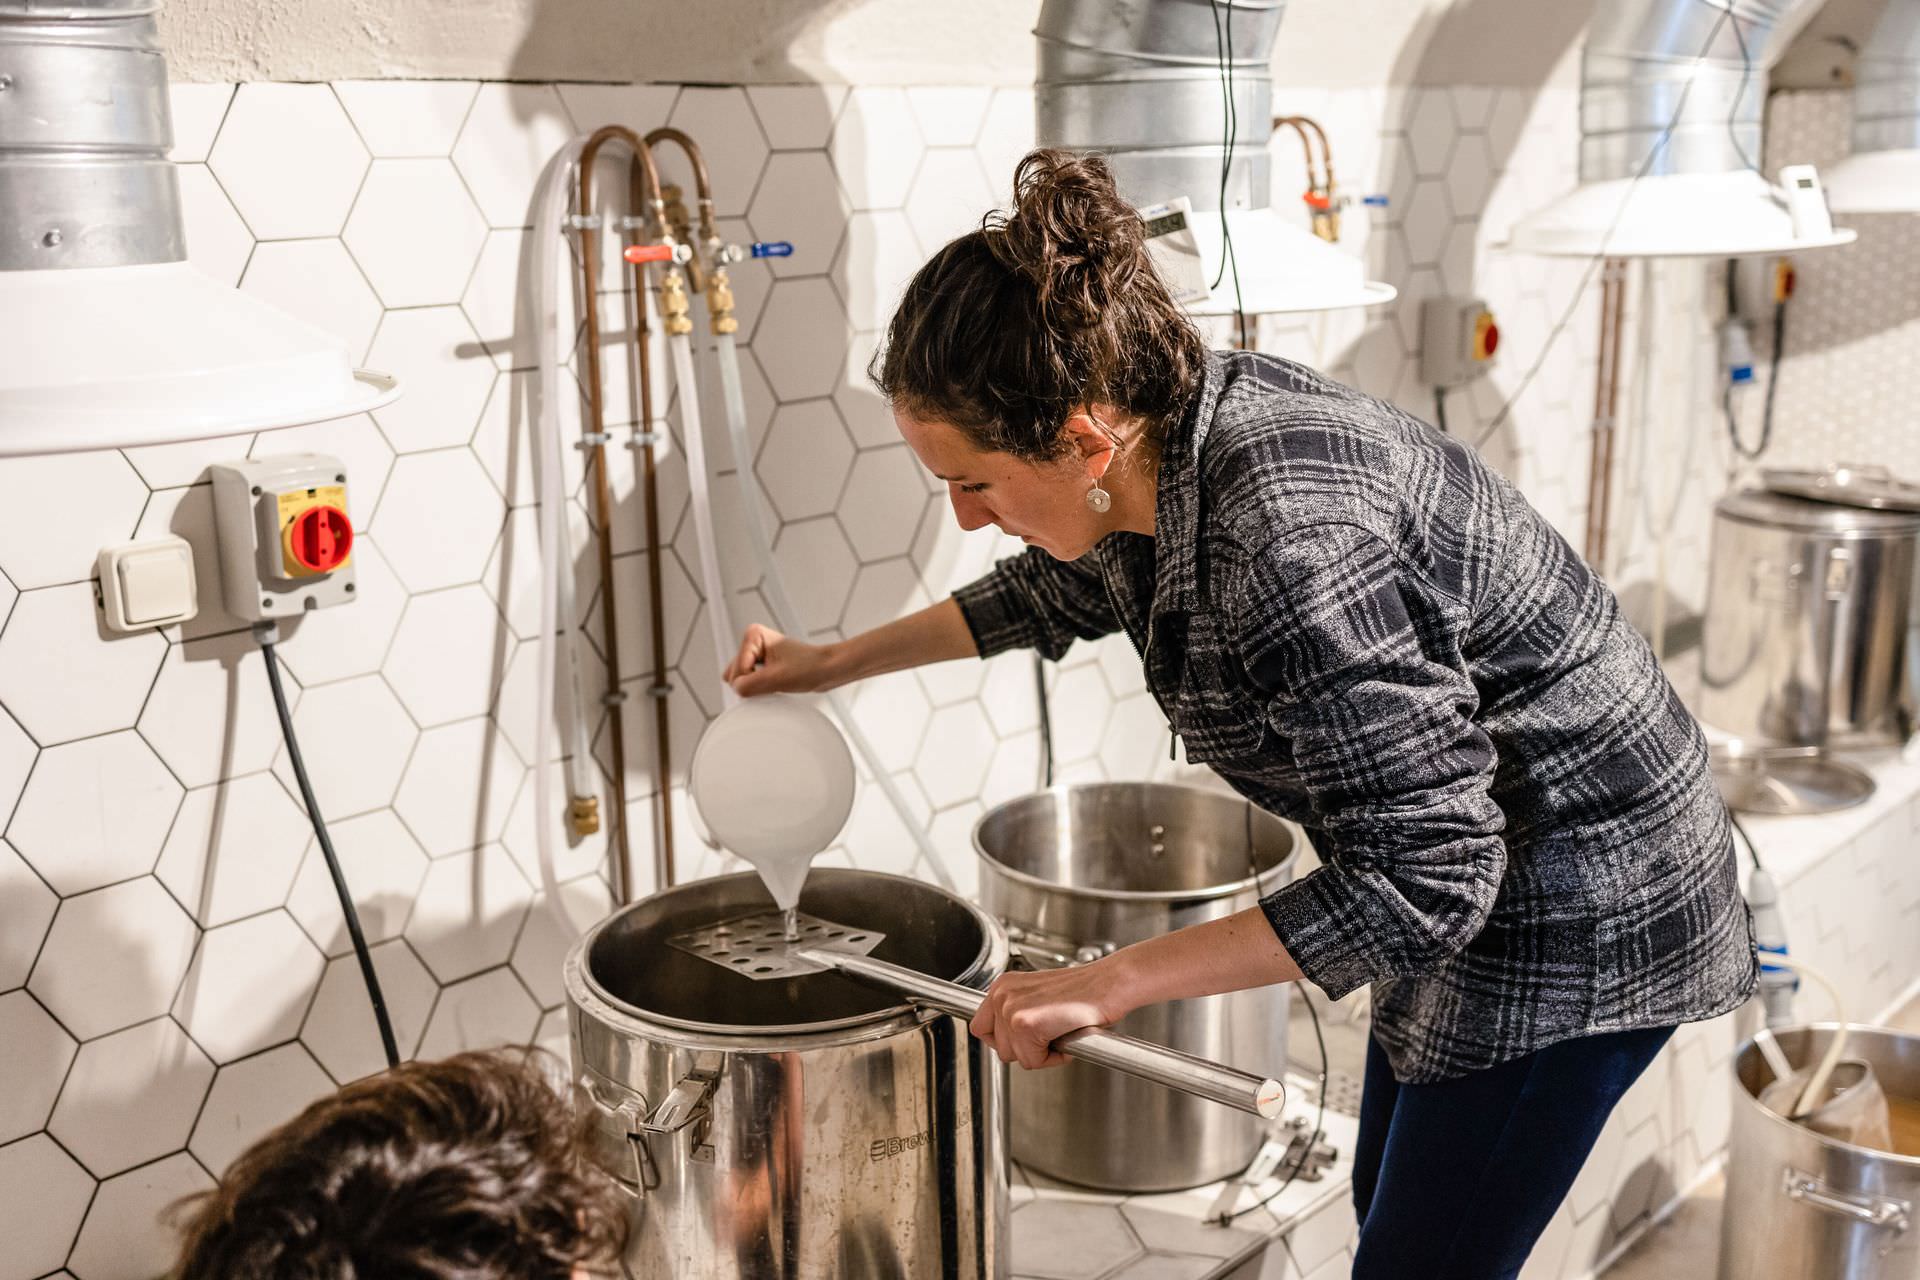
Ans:
MULTIPOLYGON (((300 689, 288 687, 286 695, 298 706, 300 689)), ((280 720, 267 660, 252 637, 219 635, 169 649, 140 712, 140 737, 188 787, 273 764, 280 720)))

